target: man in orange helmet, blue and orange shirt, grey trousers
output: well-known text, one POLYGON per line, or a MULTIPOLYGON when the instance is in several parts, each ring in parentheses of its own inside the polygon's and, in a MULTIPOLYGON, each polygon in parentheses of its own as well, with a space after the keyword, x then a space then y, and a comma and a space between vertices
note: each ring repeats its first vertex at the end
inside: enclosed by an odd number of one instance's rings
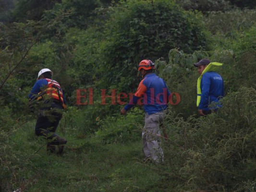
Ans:
POLYGON ((162 125, 166 116, 165 110, 168 107, 167 103, 171 93, 164 80, 153 73, 155 66, 151 60, 142 60, 138 67, 138 71, 144 79, 140 82, 130 102, 121 109, 121 114, 125 115, 126 111, 143 98, 145 126, 142 132, 142 141, 146 156, 144 161, 150 158, 154 162, 160 163, 163 161, 163 151, 159 126, 162 125))

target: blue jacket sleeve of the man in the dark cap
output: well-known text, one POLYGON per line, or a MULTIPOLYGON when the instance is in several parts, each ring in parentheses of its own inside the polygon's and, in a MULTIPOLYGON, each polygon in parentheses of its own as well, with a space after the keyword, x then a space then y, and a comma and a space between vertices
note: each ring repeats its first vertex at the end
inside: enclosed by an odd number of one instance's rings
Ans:
POLYGON ((207 73, 203 75, 201 80, 201 99, 198 108, 202 109, 208 106, 209 103, 209 90, 210 90, 211 80, 210 77, 207 76, 207 73))

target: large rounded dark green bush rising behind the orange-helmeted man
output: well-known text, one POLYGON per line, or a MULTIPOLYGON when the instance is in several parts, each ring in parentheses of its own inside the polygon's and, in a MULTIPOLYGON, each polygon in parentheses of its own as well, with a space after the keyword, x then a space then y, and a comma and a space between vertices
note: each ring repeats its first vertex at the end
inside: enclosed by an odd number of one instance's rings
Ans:
POLYGON ((205 49, 206 34, 199 18, 170 0, 121 1, 106 24, 99 84, 134 89, 136 63, 142 59, 167 60, 171 48, 185 52, 205 49))

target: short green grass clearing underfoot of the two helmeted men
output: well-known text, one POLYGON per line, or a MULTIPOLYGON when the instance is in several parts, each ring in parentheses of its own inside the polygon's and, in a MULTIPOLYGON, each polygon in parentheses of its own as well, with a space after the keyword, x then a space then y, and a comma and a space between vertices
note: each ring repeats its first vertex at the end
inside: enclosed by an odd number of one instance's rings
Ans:
POLYGON ((67 130, 68 143, 63 155, 57 156, 47 154, 45 140, 34 135, 33 127, 32 123, 18 130, 10 141, 27 163, 17 175, 24 178, 26 192, 173 191, 176 181, 162 173, 170 171, 164 164, 142 161, 141 141, 103 145, 89 136, 73 138, 67 130))

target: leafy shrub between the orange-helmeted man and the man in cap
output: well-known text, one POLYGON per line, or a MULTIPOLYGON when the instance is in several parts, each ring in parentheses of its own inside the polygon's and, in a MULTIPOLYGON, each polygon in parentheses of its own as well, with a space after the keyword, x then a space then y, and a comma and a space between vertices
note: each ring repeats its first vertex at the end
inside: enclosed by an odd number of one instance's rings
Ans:
POLYGON ((166 81, 171 93, 178 93, 181 97, 181 102, 172 105, 171 110, 177 114, 182 113, 184 118, 197 112, 195 100, 198 75, 193 63, 203 58, 209 58, 206 51, 186 54, 178 49, 171 49, 168 63, 156 62, 158 75, 166 81))

